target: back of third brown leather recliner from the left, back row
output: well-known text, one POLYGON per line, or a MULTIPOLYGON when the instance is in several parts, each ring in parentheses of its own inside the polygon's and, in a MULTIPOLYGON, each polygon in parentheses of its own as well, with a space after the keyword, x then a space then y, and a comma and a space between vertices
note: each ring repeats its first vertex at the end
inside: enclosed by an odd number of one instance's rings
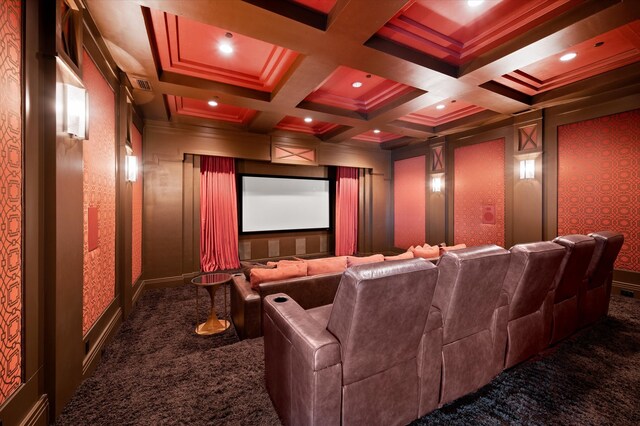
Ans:
POLYGON ((546 241, 518 244, 509 251, 511 264, 504 286, 509 295, 504 368, 513 367, 547 347, 553 319, 553 281, 566 250, 546 241))

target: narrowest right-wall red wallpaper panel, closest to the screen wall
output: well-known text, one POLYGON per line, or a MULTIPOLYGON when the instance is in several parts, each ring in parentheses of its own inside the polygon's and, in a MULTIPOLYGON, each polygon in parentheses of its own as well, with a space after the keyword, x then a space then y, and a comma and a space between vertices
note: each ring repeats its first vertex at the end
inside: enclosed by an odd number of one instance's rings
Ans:
POLYGON ((393 163, 393 245, 409 248, 425 243, 425 156, 393 163))

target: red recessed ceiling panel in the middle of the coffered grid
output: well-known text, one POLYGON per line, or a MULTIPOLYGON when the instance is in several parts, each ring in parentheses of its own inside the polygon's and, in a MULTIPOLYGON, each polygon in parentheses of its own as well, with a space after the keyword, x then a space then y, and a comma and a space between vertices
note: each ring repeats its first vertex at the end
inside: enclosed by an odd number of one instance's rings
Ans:
POLYGON ((305 101, 366 114, 415 90, 377 75, 340 66, 305 101), (353 87, 356 81, 362 86, 353 87))

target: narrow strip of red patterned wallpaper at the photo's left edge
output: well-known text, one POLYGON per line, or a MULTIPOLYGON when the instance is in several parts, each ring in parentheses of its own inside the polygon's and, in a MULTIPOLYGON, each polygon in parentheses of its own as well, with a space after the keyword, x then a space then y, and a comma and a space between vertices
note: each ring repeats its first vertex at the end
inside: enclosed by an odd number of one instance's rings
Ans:
POLYGON ((22 10, 0 8, 0 404, 22 372, 22 10))

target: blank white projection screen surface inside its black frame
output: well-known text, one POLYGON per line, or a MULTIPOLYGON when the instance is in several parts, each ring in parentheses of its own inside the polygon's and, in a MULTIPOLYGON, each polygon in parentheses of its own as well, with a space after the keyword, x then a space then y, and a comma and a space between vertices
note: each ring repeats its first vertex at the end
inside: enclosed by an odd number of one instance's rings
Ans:
POLYGON ((329 228, 329 181, 242 176, 242 232, 329 228))

